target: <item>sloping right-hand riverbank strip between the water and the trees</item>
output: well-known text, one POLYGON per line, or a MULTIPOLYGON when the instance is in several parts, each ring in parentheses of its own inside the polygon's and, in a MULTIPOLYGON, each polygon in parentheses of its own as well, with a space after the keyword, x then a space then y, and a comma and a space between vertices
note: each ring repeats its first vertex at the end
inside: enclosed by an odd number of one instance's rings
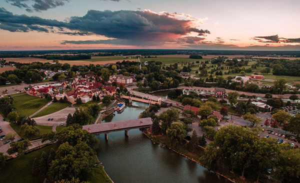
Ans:
MULTIPOLYGON (((155 135, 153 136, 151 134, 150 131, 148 130, 144 130, 143 134, 145 134, 149 139, 151 139, 151 141, 153 143, 158 143, 166 148, 169 148, 170 150, 188 158, 189 160, 192 160, 198 164, 200 164, 201 166, 205 167, 203 164, 201 164, 201 162, 198 160, 203 154, 204 154, 204 150, 200 149, 198 150, 198 152, 191 152, 189 150, 187 150, 184 145, 178 145, 177 149, 173 149, 171 148, 170 142, 168 140, 168 138, 166 137, 166 135, 155 135)), ((238 174, 230 174, 230 173, 226 173, 226 172, 218 172, 218 171, 213 171, 214 173, 230 180, 231 182, 236 182, 236 183, 252 183, 252 181, 250 180, 243 180, 240 179, 238 174)))

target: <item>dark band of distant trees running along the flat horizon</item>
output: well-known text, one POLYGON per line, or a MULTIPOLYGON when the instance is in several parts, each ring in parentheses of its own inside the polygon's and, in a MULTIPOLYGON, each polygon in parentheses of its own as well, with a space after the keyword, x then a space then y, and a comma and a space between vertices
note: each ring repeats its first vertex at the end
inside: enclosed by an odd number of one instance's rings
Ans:
POLYGON ((110 55, 167 55, 167 54, 215 54, 215 55, 257 55, 257 56, 290 56, 300 57, 300 51, 252 51, 252 50, 205 50, 205 49, 82 49, 82 50, 31 50, 31 51, 0 51, 0 58, 27 57, 47 54, 89 54, 95 56, 110 55))

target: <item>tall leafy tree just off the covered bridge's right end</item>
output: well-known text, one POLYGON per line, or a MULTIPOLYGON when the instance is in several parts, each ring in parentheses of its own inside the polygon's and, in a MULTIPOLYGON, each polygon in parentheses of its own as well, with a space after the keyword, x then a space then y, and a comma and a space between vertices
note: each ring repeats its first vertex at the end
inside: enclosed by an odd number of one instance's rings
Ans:
POLYGON ((161 120, 161 131, 165 134, 170 124, 179 119, 179 112, 175 108, 167 109, 159 114, 158 119, 161 120))

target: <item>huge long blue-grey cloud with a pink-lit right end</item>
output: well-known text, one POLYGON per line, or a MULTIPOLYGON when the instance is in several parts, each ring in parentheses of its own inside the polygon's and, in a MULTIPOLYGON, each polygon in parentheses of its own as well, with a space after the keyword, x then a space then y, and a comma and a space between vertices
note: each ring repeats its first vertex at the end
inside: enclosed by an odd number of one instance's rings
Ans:
POLYGON ((190 32, 197 32, 200 35, 210 33, 208 30, 191 27, 194 21, 197 20, 178 19, 149 10, 89 10, 83 16, 72 16, 67 22, 62 22, 24 14, 14 15, 0 8, 0 28, 4 30, 48 32, 49 27, 54 27, 59 29, 56 33, 73 35, 88 33, 133 42, 156 41, 157 44, 175 42, 177 38, 188 35, 190 32))

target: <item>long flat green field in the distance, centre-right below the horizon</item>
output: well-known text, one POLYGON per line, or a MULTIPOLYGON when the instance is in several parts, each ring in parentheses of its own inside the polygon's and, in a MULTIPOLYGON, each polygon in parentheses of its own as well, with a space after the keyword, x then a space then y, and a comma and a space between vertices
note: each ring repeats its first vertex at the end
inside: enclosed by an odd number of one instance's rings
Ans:
POLYGON ((202 59, 192 59, 192 58, 182 58, 182 57, 159 57, 157 56, 156 58, 139 58, 141 61, 161 61, 162 64, 172 64, 172 63, 180 63, 181 61, 183 62, 196 62, 196 61, 205 61, 209 60, 208 58, 202 58, 202 59))

